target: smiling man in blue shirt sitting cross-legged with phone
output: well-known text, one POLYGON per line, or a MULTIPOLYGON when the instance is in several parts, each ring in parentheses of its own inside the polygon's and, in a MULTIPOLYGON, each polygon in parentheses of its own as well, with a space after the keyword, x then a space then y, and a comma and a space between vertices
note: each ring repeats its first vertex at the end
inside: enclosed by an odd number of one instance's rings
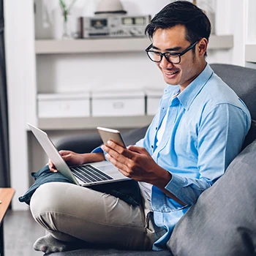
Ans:
POLYGON ((122 249, 166 247, 178 219, 223 175, 250 127, 244 103, 206 62, 210 32, 195 5, 168 4, 146 27, 152 41, 146 52, 167 87, 145 138, 128 148, 109 141, 91 154, 61 151, 69 165, 108 159, 138 181, 142 205, 74 184, 44 184, 31 212, 50 234, 35 249, 67 250, 78 239, 122 249))

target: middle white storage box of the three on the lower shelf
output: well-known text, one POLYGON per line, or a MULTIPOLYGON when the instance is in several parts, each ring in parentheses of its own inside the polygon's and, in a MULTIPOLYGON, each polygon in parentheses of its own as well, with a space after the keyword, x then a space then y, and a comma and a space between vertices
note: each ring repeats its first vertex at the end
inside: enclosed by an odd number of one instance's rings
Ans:
POLYGON ((92 116, 144 116, 145 94, 141 91, 92 91, 92 116))

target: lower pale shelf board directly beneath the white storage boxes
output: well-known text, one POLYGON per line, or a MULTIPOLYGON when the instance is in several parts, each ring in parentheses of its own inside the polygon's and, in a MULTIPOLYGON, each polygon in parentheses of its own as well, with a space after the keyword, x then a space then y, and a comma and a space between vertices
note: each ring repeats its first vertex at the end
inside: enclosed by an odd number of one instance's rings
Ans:
POLYGON ((151 123, 154 116, 104 116, 87 118, 39 118, 38 127, 54 129, 96 129, 96 127, 135 128, 151 123))

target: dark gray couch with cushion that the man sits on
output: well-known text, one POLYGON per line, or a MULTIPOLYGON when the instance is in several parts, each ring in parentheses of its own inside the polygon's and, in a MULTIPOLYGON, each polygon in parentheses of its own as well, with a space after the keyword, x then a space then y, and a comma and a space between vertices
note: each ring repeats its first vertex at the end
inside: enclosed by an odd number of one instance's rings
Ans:
MULTIPOLYGON (((227 64, 211 64, 250 110, 256 120, 256 70, 227 64)), ((124 134, 127 145, 143 137, 147 127, 124 134)), ((233 160, 224 176, 200 195, 184 215, 161 252, 128 252, 116 249, 77 249, 51 256, 80 255, 256 255, 256 122, 246 136, 241 154, 233 160), (170 252, 171 251, 171 252, 170 252)), ((90 152, 102 140, 98 135, 70 136, 59 140, 58 148, 90 152)))

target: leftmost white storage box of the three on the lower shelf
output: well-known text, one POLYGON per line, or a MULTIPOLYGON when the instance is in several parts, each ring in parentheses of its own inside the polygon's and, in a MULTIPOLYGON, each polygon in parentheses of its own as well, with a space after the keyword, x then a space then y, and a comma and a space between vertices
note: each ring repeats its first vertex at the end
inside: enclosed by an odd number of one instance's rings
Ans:
POLYGON ((39 118, 88 117, 90 116, 89 93, 38 94, 39 118))

